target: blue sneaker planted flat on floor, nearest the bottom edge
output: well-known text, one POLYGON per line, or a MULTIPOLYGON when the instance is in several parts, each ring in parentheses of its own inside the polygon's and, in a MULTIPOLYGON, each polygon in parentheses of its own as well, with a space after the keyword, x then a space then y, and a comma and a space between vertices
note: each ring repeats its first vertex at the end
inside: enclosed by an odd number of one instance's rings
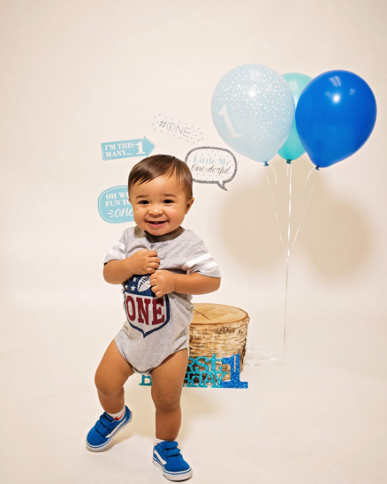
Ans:
POLYGON ((169 480, 185 480, 192 476, 192 469, 177 448, 177 442, 164 440, 153 447, 153 463, 169 480))

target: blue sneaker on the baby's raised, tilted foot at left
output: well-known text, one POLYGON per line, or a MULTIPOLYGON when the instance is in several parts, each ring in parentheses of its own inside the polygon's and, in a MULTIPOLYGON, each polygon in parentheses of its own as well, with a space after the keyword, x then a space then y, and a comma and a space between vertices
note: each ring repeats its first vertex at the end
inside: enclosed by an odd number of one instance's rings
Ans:
POLYGON ((104 450, 114 435, 132 420, 132 412, 125 405, 125 413, 120 420, 114 420, 104 412, 99 417, 95 426, 87 434, 86 447, 93 452, 104 450))

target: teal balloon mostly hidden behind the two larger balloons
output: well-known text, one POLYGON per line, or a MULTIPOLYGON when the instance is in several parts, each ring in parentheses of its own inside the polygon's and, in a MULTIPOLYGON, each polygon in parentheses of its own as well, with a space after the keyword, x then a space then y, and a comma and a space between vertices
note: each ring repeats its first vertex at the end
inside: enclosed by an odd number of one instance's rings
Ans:
MULTIPOLYGON (((309 84, 312 78, 307 76, 306 74, 300 74, 298 72, 289 72, 287 74, 283 74, 283 77, 286 79, 290 86, 294 97, 294 104, 297 107, 298 99, 301 95, 301 92, 309 84)), ((285 160, 292 161, 299 158, 304 153, 305 148, 302 146, 302 143, 298 136, 296 120, 294 119, 290 134, 281 149, 278 151, 278 154, 285 160)))

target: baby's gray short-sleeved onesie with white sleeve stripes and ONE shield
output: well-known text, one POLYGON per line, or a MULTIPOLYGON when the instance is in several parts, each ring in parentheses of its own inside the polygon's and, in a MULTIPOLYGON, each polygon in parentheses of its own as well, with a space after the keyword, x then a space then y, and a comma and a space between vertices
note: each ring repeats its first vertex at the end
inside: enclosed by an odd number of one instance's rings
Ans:
MULTIPOLYGON (((182 227, 160 236, 150 235, 137 226, 127 228, 106 255, 104 263, 125 259, 141 249, 157 252, 159 269, 220 277, 219 268, 203 240, 182 227)), ((150 274, 134 275, 122 286, 126 322, 116 335, 115 343, 136 372, 148 373, 170 354, 189 347, 192 296, 171 292, 156 297, 151 289, 150 274)))

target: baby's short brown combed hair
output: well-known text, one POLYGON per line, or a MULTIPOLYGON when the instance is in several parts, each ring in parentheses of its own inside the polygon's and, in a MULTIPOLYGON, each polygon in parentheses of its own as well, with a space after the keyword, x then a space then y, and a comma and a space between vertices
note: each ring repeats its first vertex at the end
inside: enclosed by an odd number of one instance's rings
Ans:
MULTIPOLYGON (((176 175, 177 183, 184 190, 186 199, 192 198, 192 173, 184 161, 170 155, 153 155, 139 161, 129 173, 127 191, 130 193, 135 183, 146 183, 158 176, 176 175)), ((130 196, 130 195, 129 195, 130 196)))

